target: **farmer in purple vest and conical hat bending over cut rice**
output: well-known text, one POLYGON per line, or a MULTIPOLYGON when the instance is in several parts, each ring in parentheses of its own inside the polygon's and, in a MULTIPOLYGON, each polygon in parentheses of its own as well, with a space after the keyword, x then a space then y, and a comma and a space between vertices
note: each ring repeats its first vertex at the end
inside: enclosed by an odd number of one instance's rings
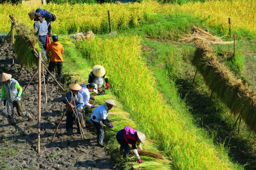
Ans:
POLYGON ((132 145, 134 156, 138 159, 138 163, 142 163, 143 161, 140 159, 140 156, 138 154, 138 150, 136 149, 136 145, 138 149, 142 149, 140 143, 144 144, 146 140, 146 136, 136 131, 135 129, 132 129, 129 126, 124 127, 124 129, 118 131, 116 134, 116 140, 121 145, 120 146, 120 152, 124 149, 123 158, 126 158, 126 156, 130 152, 130 145, 132 145))

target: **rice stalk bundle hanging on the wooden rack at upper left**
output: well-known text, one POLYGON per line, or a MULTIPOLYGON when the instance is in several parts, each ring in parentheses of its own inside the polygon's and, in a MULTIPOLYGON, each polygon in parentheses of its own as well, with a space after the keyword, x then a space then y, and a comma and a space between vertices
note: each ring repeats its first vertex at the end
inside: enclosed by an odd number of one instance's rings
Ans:
POLYGON ((17 37, 14 49, 17 59, 22 65, 28 68, 37 65, 38 60, 32 53, 32 49, 36 49, 38 52, 42 51, 39 47, 38 37, 36 37, 34 31, 24 23, 20 23, 15 27, 15 30, 17 37))

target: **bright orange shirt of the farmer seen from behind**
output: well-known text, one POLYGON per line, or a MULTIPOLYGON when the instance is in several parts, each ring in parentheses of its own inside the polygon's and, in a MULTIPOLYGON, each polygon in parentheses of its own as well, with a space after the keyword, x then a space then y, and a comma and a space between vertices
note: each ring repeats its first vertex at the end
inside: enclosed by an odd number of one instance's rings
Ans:
POLYGON ((46 49, 46 54, 50 54, 50 61, 63 61, 62 53, 64 51, 63 45, 59 42, 52 42, 46 49))

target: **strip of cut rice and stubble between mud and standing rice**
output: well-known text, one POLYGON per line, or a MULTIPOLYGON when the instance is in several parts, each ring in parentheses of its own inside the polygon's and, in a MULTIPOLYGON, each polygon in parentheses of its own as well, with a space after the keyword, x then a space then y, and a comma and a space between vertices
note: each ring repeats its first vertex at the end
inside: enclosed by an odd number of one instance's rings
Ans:
MULTIPOLYGON (((84 59, 79 50, 76 49, 76 45, 72 42, 68 36, 60 36, 59 42, 64 45, 64 68, 63 71, 65 74, 69 74, 72 77, 72 81, 77 83, 86 83, 88 82, 88 75, 92 69, 92 63, 89 63, 84 59)), ((108 74, 108 70, 107 70, 108 74)), ((108 145, 105 147, 112 158, 116 160, 118 166, 123 169, 152 169, 152 170, 168 170, 170 169, 170 160, 167 158, 158 159, 152 158, 150 156, 141 156, 144 163, 138 165, 136 158, 134 156, 129 157, 129 161, 122 159, 122 156, 119 154, 120 145, 116 141, 116 132, 123 129, 125 126, 134 127, 138 129, 139 125, 132 121, 130 113, 126 112, 125 106, 123 106, 118 99, 112 94, 110 90, 106 90, 106 94, 102 96, 94 96, 95 101, 94 105, 98 106, 104 104, 104 100, 113 98, 118 107, 113 107, 109 114, 109 119, 114 124, 114 128, 110 129, 104 126, 105 129, 105 141, 108 145)), ((157 143, 155 141, 146 139, 146 143, 142 146, 144 150, 154 152, 157 154, 162 154, 157 149, 157 143)))

